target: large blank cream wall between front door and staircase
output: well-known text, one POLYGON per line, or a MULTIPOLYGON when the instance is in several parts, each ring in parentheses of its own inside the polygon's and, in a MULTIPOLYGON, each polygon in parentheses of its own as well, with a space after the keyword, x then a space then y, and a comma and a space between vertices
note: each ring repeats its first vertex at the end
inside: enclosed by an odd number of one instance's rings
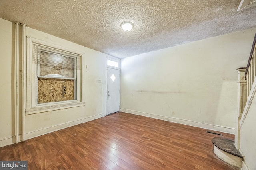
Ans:
POLYGON ((121 111, 234 133, 236 68, 246 66, 255 31, 122 59, 121 111))

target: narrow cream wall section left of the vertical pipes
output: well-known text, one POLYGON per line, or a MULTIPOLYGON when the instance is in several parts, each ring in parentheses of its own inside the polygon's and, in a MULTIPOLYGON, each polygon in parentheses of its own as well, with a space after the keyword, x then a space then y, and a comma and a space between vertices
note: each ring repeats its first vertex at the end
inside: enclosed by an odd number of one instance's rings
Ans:
MULTIPOLYGON (((0 144, 14 135, 14 23, 0 18, 0 144)), ((0 145, 1 147, 1 145, 0 145)))

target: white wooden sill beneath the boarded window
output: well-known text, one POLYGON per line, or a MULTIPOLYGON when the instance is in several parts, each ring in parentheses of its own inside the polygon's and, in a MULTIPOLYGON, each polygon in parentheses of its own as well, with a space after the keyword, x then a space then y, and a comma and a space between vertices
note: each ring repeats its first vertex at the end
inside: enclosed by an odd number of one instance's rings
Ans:
POLYGON ((68 109, 68 108, 79 107, 79 106, 85 106, 85 102, 72 102, 72 103, 59 104, 54 106, 34 107, 31 109, 26 109, 25 115, 31 115, 35 113, 42 113, 46 111, 54 111, 54 110, 60 110, 60 109, 68 109))

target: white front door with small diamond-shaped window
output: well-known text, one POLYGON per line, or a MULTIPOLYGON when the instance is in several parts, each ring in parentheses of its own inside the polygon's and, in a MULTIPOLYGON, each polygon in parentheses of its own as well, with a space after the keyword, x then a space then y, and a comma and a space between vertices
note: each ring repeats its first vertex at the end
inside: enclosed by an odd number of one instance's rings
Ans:
POLYGON ((118 69, 107 68, 107 115, 119 111, 120 73, 118 69))

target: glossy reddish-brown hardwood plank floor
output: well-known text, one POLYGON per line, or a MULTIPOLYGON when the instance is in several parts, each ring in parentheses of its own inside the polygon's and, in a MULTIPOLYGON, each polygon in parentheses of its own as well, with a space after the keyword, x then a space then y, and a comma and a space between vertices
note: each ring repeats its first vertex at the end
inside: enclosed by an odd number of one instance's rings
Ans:
MULTIPOLYGON (((234 139, 234 135, 222 133, 234 139)), ((213 153, 206 129, 115 113, 0 148, 29 170, 236 170, 213 153)))

